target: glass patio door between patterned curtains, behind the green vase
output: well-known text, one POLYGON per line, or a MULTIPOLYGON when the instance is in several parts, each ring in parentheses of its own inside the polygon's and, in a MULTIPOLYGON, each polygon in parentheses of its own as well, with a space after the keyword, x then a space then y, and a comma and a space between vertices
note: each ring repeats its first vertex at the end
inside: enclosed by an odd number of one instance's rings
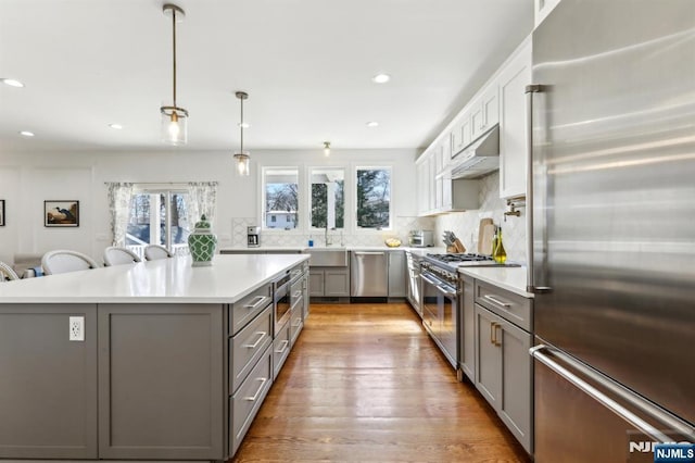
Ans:
MULTIPOLYGON (((162 245, 172 251, 188 247, 187 191, 140 191, 132 195, 126 246, 162 245)), ((134 249, 136 250, 136 249, 134 249)), ((137 250, 136 250, 137 252, 137 250)))

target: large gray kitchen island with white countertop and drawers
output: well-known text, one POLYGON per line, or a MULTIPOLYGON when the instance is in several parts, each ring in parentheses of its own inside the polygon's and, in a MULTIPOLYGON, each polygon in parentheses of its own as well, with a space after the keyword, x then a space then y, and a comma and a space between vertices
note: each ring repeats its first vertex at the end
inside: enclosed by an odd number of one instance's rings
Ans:
POLYGON ((229 459, 291 348, 275 349, 273 281, 305 280, 307 260, 174 258, 0 285, 0 459, 229 459))

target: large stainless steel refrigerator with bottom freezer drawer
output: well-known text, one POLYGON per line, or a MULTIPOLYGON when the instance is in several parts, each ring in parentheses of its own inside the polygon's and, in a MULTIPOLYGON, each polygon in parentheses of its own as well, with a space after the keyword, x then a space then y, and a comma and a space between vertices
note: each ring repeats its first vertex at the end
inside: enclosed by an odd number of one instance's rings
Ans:
POLYGON ((563 0, 528 89, 535 461, 695 442, 695 1, 563 0))

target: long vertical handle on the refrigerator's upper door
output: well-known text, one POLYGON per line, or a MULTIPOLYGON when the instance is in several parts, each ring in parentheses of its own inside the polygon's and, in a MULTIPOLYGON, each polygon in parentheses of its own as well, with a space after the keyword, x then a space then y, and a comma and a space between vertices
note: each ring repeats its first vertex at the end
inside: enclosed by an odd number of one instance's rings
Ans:
POLYGON ((533 268, 533 93, 543 91, 542 85, 526 86, 526 229, 527 229, 527 265, 526 265, 526 290, 528 292, 547 292, 551 290, 547 286, 535 286, 534 268, 533 268))

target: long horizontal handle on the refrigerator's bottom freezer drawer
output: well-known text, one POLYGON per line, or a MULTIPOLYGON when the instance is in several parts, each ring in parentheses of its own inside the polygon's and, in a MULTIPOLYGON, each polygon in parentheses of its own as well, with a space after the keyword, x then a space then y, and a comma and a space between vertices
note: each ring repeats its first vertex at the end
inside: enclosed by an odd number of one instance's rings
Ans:
POLYGON ((645 422, 640 416, 632 413, 630 410, 622 406, 620 403, 612 400, 610 397, 596 389, 594 386, 590 385, 579 376, 574 375, 565 366, 557 363, 553 360, 553 356, 557 356, 563 362, 567 363, 570 367, 574 368, 578 373, 586 375, 587 377, 596 380, 602 386, 605 386, 612 392, 616 392, 621 399, 624 399, 630 405, 633 405, 635 409, 644 412, 646 415, 650 416, 655 421, 667 425, 670 429, 678 430, 679 433, 687 436, 688 438, 695 438, 695 429, 687 426, 686 424, 680 422, 679 420, 671 417, 667 413, 662 412, 658 408, 647 403, 643 399, 636 397, 632 392, 627 390, 618 390, 618 388, 614 385, 609 385, 606 383, 604 378, 602 378, 597 373, 593 372, 589 367, 584 366, 580 362, 576 361, 571 356, 554 349, 552 347, 545 345, 539 345, 529 350, 529 353, 539 362, 543 363, 545 366, 551 368, 553 372, 558 374, 560 377, 571 383, 573 386, 579 388, 584 393, 592 397, 594 400, 606 406, 608 410, 620 416, 622 420, 630 423, 641 433, 649 436, 652 439, 659 442, 671 442, 673 440, 672 437, 667 436, 652 424, 645 422), (552 355, 547 355, 544 351, 549 352, 552 355))

